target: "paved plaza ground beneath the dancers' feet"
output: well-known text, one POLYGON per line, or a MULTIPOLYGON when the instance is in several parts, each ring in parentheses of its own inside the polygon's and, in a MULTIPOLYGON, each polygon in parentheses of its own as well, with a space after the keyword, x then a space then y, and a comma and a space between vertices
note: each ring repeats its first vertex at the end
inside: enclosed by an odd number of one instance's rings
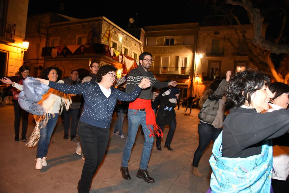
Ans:
MULTIPOLYGON (((162 151, 153 144, 148 171, 155 183, 146 183, 136 177, 143 147, 143 135, 138 132, 129 161, 131 180, 121 177, 120 165, 125 140, 112 135, 116 115, 110 129, 110 141, 104 157, 91 184, 90 192, 158 192, 185 193, 206 192, 209 188, 211 169, 209 158, 212 143, 205 151, 199 163, 199 171, 204 175, 198 178, 190 174, 193 153, 198 146, 199 110, 184 112, 185 108, 176 110, 177 128, 171 143, 173 151, 164 148, 168 127, 164 130, 162 151)), ((29 115, 27 139, 32 133, 33 116, 29 115)), ((75 153, 76 141, 64 140, 63 126, 60 119, 51 137, 46 167, 35 169, 36 148, 28 149, 23 142, 14 141, 14 111, 12 105, 0 108, 0 192, 77 192, 84 161, 75 153)), ((127 135, 127 118, 123 125, 127 135)), ((20 131, 21 133, 21 131, 20 131)))

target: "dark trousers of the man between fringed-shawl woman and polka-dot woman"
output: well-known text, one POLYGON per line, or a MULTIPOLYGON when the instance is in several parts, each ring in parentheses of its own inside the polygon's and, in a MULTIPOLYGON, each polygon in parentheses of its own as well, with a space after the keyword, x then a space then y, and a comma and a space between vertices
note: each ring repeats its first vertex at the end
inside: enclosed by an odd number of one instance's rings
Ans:
POLYGON ((63 110, 64 134, 68 134, 70 117, 71 117, 70 136, 76 135, 78 113, 79 113, 79 109, 68 109, 68 111, 63 110))

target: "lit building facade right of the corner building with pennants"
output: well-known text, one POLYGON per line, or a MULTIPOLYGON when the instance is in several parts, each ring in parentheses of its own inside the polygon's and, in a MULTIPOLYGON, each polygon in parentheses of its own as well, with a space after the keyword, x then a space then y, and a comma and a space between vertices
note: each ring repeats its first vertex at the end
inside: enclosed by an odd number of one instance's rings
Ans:
POLYGON ((153 55, 150 71, 161 81, 178 82, 180 98, 192 94, 199 23, 144 27, 144 51, 153 55))

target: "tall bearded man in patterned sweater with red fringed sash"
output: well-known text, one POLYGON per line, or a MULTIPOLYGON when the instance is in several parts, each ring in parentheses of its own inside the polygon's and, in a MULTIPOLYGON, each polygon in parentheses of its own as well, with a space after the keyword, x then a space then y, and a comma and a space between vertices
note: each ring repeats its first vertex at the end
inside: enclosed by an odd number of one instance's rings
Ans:
POLYGON ((140 160, 140 169, 136 176, 144 179, 148 183, 154 183, 155 180, 149 177, 147 171, 147 165, 149 157, 151 155, 151 149, 153 147, 154 132, 157 135, 162 136, 162 131, 155 123, 155 113, 151 108, 151 99, 153 94, 151 92, 152 87, 164 88, 168 86, 175 87, 177 82, 160 82, 154 76, 153 73, 148 71, 153 63, 152 55, 149 52, 143 52, 139 56, 140 65, 132 69, 127 77, 126 92, 133 91, 143 78, 148 78, 151 82, 151 87, 143 89, 138 98, 129 104, 128 109, 128 135, 123 149, 123 156, 121 159, 121 173, 124 179, 130 180, 131 177, 128 173, 128 161, 131 155, 131 148, 134 145, 138 127, 141 124, 144 132, 144 147, 142 149, 142 156, 140 160), (160 133, 159 133, 160 131, 160 133))

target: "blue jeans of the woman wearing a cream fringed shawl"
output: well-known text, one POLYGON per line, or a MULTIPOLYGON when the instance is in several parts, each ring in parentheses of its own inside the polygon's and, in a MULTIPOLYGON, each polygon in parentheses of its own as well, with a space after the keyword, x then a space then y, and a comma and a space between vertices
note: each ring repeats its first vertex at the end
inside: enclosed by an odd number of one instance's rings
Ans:
POLYGON ((58 113, 55 113, 54 117, 52 117, 52 114, 49 115, 51 118, 48 120, 46 126, 40 129, 40 138, 37 144, 36 158, 46 157, 50 143, 50 137, 58 120, 58 113))

